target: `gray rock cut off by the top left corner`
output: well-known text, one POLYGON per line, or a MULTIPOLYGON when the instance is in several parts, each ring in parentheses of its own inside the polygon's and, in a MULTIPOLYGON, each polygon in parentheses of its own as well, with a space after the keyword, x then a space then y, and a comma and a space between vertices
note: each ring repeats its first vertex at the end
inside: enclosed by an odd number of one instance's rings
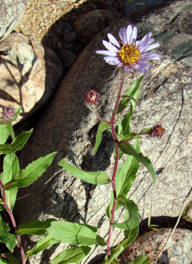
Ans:
POLYGON ((14 30, 20 21, 29 0, 0 1, 0 41, 14 30))

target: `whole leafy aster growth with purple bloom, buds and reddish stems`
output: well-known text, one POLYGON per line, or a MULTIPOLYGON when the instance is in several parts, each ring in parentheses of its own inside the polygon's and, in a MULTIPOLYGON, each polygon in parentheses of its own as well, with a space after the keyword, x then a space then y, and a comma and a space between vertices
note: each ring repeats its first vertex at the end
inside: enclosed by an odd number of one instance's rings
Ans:
MULTIPOLYGON (((141 136, 160 138, 165 133, 165 129, 162 128, 161 125, 156 125, 154 127, 143 128, 139 133, 130 132, 130 119, 133 116, 133 109, 135 106, 139 106, 137 102, 139 97, 139 86, 144 76, 137 78, 125 95, 121 95, 121 93, 127 74, 133 73, 134 70, 139 73, 148 74, 149 71, 147 69, 155 68, 155 66, 149 65, 145 61, 160 59, 161 56, 155 53, 144 53, 159 46, 158 43, 152 44, 154 38, 151 38, 151 32, 146 34, 141 40, 136 41, 137 27, 132 28, 131 25, 128 25, 127 28, 124 27, 120 29, 119 37, 120 41, 117 41, 112 34, 108 34, 109 42, 103 41, 103 44, 108 50, 96 51, 97 54, 104 55, 104 59, 107 63, 117 65, 122 72, 114 111, 110 120, 102 119, 95 110, 95 106, 97 106, 100 101, 100 96, 97 91, 88 91, 83 96, 87 107, 91 109, 101 121, 98 126, 93 155, 97 152, 98 146, 101 143, 102 131, 107 130, 114 139, 115 164, 113 174, 112 176, 109 176, 103 171, 85 172, 66 162, 67 158, 62 159, 59 162, 60 166, 76 178, 91 184, 112 185, 111 202, 106 210, 106 216, 109 218, 107 241, 105 238, 97 234, 97 231, 99 230, 97 227, 87 225, 86 223, 81 224, 68 221, 57 221, 56 219, 46 219, 45 221, 35 220, 20 225, 19 227, 16 226, 12 214, 12 208, 15 204, 18 188, 28 186, 37 180, 51 164, 56 154, 56 152, 48 154, 45 157, 41 157, 32 162, 25 169, 20 169, 15 152, 16 150, 23 148, 32 130, 24 131, 15 137, 11 121, 15 120, 19 113, 20 109, 16 109, 16 114, 14 116, 11 116, 8 119, 2 117, 3 122, 0 124, 0 154, 5 154, 3 172, 0 176, 2 192, 0 209, 7 210, 15 229, 15 234, 10 234, 9 226, 1 219, 0 229, 2 233, 0 234, 3 234, 2 236, 0 235, 1 241, 7 245, 10 252, 5 252, 1 255, 2 258, 0 258, 0 264, 20 263, 12 254, 16 245, 20 249, 22 264, 25 264, 28 257, 41 252, 45 248, 48 248, 48 246, 58 243, 59 241, 76 246, 60 252, 59 255, 49 262, 50 264, 79 263, 89 254, 91 251, 91 245, 100 245, 107 248, 107 255, 105 256, 103 264, 118 264, 119 262, 117 258, 119 254, 137 237, 140 223, 139 210, 135 202, 126 197, 136 179, 140 163, 144 164, 151 173, 154 185, 156 180, 155 171, 150 159, 140 152, 139 139, 141 136), (120 101, 121 98, 123 99, 120 101), (124 116, 121 122, 117 116, 128 104, 130 104, 130 111, 124 116), (115 130, 116 120, 118 125, 117 133, 115 130), (12 137, 12 143, 5 144, 9 135, 12 137), (131 145, 130 141, 133 139, 136 139, 136 142, 131 145), (118 169, 118 162, 123 154, 126 154, 127 158, 118 169), (124 222, 116 223, 115 212, 121 206, 124 208, 124 222), (126 239, 124 239, 116 248, 111 249, 110 245, 113 227, 123 229, 126 239), (38 236, 44 236, 47 234, 47 236, 38 241, 34 248, 24 253, 20 239, 20 235, 24 233, 38 236), (6 259, 3 259, 4 257, 6 259)), ((13 109, 10 109, 10 112, 11 111, 14 112, 13 109)), ((148 252, 146 252, 130 263, 147 264, 151 263, 151 260, 148 258, 148 252)))

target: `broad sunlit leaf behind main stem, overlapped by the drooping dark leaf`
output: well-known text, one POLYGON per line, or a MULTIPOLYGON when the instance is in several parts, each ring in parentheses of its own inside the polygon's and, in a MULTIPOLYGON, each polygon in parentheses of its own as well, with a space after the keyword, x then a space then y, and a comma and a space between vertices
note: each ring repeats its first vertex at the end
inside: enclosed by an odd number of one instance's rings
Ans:
MULTIPOLYGON (((136 151, 140 151, 139 141, 137 140, 133 145, 136 151)), ((117 171, 115 178, 116 194, 127 196, 133 182, 137 176, 137 171, 140 167, 140 162, 133 156, 127 155, 126 162, 124 162, 117 171)))

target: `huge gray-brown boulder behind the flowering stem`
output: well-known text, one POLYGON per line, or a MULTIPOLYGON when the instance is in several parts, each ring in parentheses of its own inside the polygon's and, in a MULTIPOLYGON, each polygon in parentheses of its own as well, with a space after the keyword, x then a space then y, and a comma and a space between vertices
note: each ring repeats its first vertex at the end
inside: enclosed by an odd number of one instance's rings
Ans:
MULTIPOLYGON (((25 165, 50 152, 57 150, 58 154, 43 177, 32 186, 20 190, 22 196, 42 186, 41 191, 38 189, 17 202, 17 221, 24 223, 36 218, 56 217, 94 226, 98 224, 101 227, 98 234, 107 238, 108 219, 105 217, 105 209, 109 203, 111 186, 87 184, 66 172, 57 174, 48 184, 44 183, 59 171, 57 163, 66 155, 84 170, 105 170, 108 175, 112 174, 114 159, 110 135, 104 133, 98 152, 91 158, 98 120, 81 98, 89 89, 98 90, 101 94, 98 112, 103 118, 111 116, 121 73, 115 66, 106 64, 95 51, 104 49, 102 39, 107 39, 108 32, 118 38, 119 29, 129 23, 137 26, 138 39, 152 31, 155 41, 160 43, 155 52, 163 55, 161 61, 153 62, 157 68, 151 70, 151 74, 141 84, 139 103, 143 111, 135 108, 131 131, 139 132, 157 123, 166 129, 165 136, 160 140, 147 137, 140 140, 141 151, 151 159, 155 167, 155 188, 151 176, 141 166, 129 197, 138 204, 142 219, 148 217, 151 197, 152 216, 179 214, 192 184, 189 176, 192 171, 191 8, 191 2, 187 0, 169 2, 156 9, 153 7, 152 10, 145 10, 144 13, 137 12, 137 16, 133 14, 129 19, 119 20, 103 30, 84 49, 62 81, 49 109, 35 127, 28 148, 23 150, 21 161, 25 165)), ((136 77, 139 76, 137 74, 136 77)), ((132 82, 133 78, 127 78, 123 92, 132 82)), ((123 213, 119 211, 119 215, 116 219, 120 222, 123 213)), ((119 229, 114 228, 112 245, 119 243, 122 238, 119 229)), ((61 244, 54 255, 62 247, 61 244)), ((85 262, 100 254, 102 249, 99 246, 94 248, 85 262)), ((30 263, 38 263, 34 261, 32 258, 30 263)), ((44 263, 47 263, 47 259, 44 259, 44 263)), ((94 260, 90 263, 94 263, 94 260)))

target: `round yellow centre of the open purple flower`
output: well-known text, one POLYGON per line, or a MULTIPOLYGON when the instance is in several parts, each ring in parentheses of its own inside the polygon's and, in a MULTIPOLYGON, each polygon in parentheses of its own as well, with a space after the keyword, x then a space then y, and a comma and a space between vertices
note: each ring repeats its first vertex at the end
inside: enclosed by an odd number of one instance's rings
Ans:
POLYGON ((133 43, 133 46, 122 44, 122 48, 118 53, 118 58, 123 62, 124 66, 134 64, 140 58, 140 51, 135 47, 135 43, 133 43))

